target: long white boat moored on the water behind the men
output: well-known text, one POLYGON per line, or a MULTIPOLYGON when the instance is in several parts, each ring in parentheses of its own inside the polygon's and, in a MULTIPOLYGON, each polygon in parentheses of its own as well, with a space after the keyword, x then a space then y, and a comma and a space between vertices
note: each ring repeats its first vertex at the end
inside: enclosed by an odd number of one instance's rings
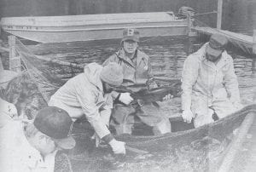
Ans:
POLYGON ((39 43, 121 38, 125 27, 137 28, 141 37, 188 32, 188 21, 172 12, 3 17, 0 24, 5 32, 39 43))

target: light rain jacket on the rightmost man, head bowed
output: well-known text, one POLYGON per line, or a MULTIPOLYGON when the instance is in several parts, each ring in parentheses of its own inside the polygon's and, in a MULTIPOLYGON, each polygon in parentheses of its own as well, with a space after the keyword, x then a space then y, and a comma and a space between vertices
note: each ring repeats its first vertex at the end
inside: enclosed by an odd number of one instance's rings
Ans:
MULTIPOLYGON (((232 57, 223 52, 218 64, 207 60, 205 43, 185 60, 182 72, 182 109, 190 109, 193 95, 206 97, 211 104, 218 98, 229 98, 233 104, 241 102, 232 57)), ((211 105, 209 105, 211 106, 211 105)))

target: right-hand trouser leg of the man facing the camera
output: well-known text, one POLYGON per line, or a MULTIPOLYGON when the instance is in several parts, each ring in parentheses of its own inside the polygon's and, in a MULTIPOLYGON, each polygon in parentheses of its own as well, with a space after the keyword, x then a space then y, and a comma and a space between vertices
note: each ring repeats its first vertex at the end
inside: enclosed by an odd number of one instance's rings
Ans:
POLYGON ((164 112, 161 112, 160 108, 151 104, 144 105, 142 112, 137 112, 136 115, 143 123, 153 127, 154 135, 163 135, 171 132, 169 118, 165 116, 164 112))

